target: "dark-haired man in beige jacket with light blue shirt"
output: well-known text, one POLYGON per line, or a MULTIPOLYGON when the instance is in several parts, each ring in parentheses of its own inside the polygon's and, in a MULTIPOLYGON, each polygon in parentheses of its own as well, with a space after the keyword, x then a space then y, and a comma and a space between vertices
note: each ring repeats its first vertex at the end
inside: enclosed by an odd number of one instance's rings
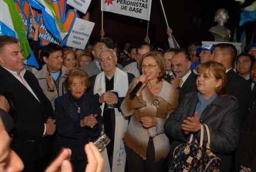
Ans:
POLYGON ((62 48, 50 43, 41 50, 40 58, 46 63, 35 73, 40 87, 51 101, 53 109, 55 98, 66 93, 64 82, 68 69, 63 66, 62 48))

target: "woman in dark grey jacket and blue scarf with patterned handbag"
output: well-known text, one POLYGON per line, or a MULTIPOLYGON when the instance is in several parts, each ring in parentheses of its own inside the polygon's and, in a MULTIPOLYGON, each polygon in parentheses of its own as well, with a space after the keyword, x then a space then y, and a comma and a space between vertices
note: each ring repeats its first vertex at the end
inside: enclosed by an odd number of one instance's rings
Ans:
MULTIPOLYGON (((218 62, 206 62, 197 68, 197 89, 181 101, 169 115, 164 129, 174 141, 170 145, 169 165, 176 146, 188 141, 190 134, 200 140, 200 124, 207 124, 210 131, 211 151, 221 159, 221 171, 233 168, 232 153, 239 138, 238 101, 226 95, 225 68, 218 62)), ((207 133, 204 128, 204 145, 207 133)))

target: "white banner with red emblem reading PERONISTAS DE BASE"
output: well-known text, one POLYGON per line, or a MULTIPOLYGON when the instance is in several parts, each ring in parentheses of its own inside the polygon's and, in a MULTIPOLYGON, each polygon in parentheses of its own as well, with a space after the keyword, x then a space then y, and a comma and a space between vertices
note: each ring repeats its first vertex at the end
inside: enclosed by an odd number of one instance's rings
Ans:
POLYGON ((101 11, 150 20, 152 0, 101 0, 101 11))

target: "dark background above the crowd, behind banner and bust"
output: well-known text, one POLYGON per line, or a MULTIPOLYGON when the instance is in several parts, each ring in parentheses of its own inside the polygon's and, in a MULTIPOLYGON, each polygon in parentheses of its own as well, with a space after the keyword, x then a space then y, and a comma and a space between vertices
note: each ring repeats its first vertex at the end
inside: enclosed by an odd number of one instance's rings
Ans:
MULTIPOLYGON (((215 11, 226 8, 229 22, 226 27, 233 33, 239 23, 240 6, 234 0, 162 0, 169 26, 173 29, 176 40, 182 47, 190 42, 213 40, 208 32, 214 23, 215 11)), ((100 38, 101 11, 100 0, 92 0, 89 8, 90 20, 95 23, 91 42, 100 38)), ((147 21, 138 18, 104 12, 104 30, 106 37, 112 37, 118 43, 124 41, 141 42, 146 34, 147 21)), ((159 0, 152 0, 150 38, 154 42, 166 42, 166 24, 159 0)))

